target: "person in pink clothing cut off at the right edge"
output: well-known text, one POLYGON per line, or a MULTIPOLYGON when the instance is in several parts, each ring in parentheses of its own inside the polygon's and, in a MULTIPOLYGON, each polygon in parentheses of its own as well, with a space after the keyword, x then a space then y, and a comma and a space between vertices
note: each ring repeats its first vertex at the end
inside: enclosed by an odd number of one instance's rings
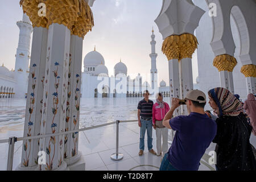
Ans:
POLYGON ((253 126, 253 134, 256 136, 256 100, 252 93, 249 93, 247 96, 247 101, 243 105, 246 114, 250 117, 251 126, 253 126))

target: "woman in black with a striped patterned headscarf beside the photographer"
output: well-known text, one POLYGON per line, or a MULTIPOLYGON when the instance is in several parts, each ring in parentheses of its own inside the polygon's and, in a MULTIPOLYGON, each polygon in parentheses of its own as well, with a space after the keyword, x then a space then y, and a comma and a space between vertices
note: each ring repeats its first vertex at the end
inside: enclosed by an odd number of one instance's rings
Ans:
POLYGON ((243 103, 225 88, 209 90, 209 104, 218 115, 217 171, 255 171, 256 161, 250 145, 252 127, 243 114, 243 103))

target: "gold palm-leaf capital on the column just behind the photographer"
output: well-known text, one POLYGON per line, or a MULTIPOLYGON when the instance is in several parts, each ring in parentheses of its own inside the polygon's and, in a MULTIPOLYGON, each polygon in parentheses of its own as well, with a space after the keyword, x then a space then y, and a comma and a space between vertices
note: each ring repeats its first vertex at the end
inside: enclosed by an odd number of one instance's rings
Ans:
POLYGON ((196 36, 192 34, 171 35, 164 39, 162 52, 168 60, 192 58, 197 44, 196 36))

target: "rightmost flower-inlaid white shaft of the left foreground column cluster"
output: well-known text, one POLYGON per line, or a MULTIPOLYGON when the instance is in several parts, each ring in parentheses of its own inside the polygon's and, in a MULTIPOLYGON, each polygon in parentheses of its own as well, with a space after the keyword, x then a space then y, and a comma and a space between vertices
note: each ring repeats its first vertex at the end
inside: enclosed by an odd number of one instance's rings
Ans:
MULTIPOLYGON (((65 118, 65 131, 79 129, 82 38, 71 35, 68 98, 65 118)), ((79 133, 72 133, 64 137, 64 160, 68 165, 76 163, 81 155, 78 151, 79 133)))

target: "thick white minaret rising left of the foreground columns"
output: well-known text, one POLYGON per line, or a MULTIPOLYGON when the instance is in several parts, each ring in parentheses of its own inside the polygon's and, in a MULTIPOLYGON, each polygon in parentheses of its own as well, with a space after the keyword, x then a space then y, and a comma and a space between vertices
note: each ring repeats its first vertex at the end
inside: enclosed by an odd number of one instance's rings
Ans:
POLYGON ((25 98, 28 84, 28 62, 30 60, 30 40, 33 31, 30 19, 23 14, 22 21, 16 23, 19 27, 19 44, 15 60, 15 98, 25 98))

